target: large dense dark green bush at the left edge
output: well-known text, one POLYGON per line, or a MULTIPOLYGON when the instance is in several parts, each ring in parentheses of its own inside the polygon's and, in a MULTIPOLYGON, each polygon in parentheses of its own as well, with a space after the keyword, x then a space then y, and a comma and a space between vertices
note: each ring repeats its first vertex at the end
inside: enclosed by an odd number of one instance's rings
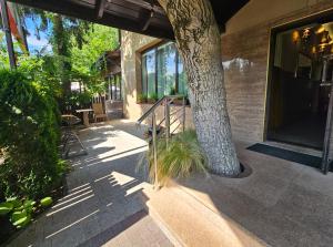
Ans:
POLYGON ((52 95, 19 71, 0 71, 0 198, 37 198, 59 185, 63 163, 58 107, 52 95))

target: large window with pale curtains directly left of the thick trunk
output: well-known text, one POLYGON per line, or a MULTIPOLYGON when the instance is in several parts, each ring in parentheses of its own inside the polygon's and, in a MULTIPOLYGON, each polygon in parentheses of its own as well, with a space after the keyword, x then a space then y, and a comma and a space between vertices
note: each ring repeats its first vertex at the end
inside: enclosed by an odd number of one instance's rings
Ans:
POLYGON ((188 94, 186 74, 173 42, 142 53, 141 69, 142 94, 147 97, 188 94))

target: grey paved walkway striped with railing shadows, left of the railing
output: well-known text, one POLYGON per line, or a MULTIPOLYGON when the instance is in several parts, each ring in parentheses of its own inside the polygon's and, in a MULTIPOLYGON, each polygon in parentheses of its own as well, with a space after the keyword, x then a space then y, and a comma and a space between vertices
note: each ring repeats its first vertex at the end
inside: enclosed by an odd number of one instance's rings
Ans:
POLYGON ((69 194, 9 246, 172 246, 144 210, 150 185, 137 164, 148 147, 133 130, 118 121, 81 131, 89 154, 72 159, 69 194))

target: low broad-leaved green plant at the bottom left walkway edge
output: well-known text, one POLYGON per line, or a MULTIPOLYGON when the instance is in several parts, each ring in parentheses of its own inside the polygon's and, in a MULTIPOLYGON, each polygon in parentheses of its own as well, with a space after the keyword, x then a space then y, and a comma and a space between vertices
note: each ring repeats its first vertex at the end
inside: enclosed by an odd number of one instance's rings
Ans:
POLYGON ((40 205, 36 205, 32 199, 18 199, 10 197, 6 202, 0 203, 0 216, 10 215, 10 222, 17 228, 27 226, 37 207, 48 207, 52 204, 51 197, 46 197, 40 200, 40 205))

